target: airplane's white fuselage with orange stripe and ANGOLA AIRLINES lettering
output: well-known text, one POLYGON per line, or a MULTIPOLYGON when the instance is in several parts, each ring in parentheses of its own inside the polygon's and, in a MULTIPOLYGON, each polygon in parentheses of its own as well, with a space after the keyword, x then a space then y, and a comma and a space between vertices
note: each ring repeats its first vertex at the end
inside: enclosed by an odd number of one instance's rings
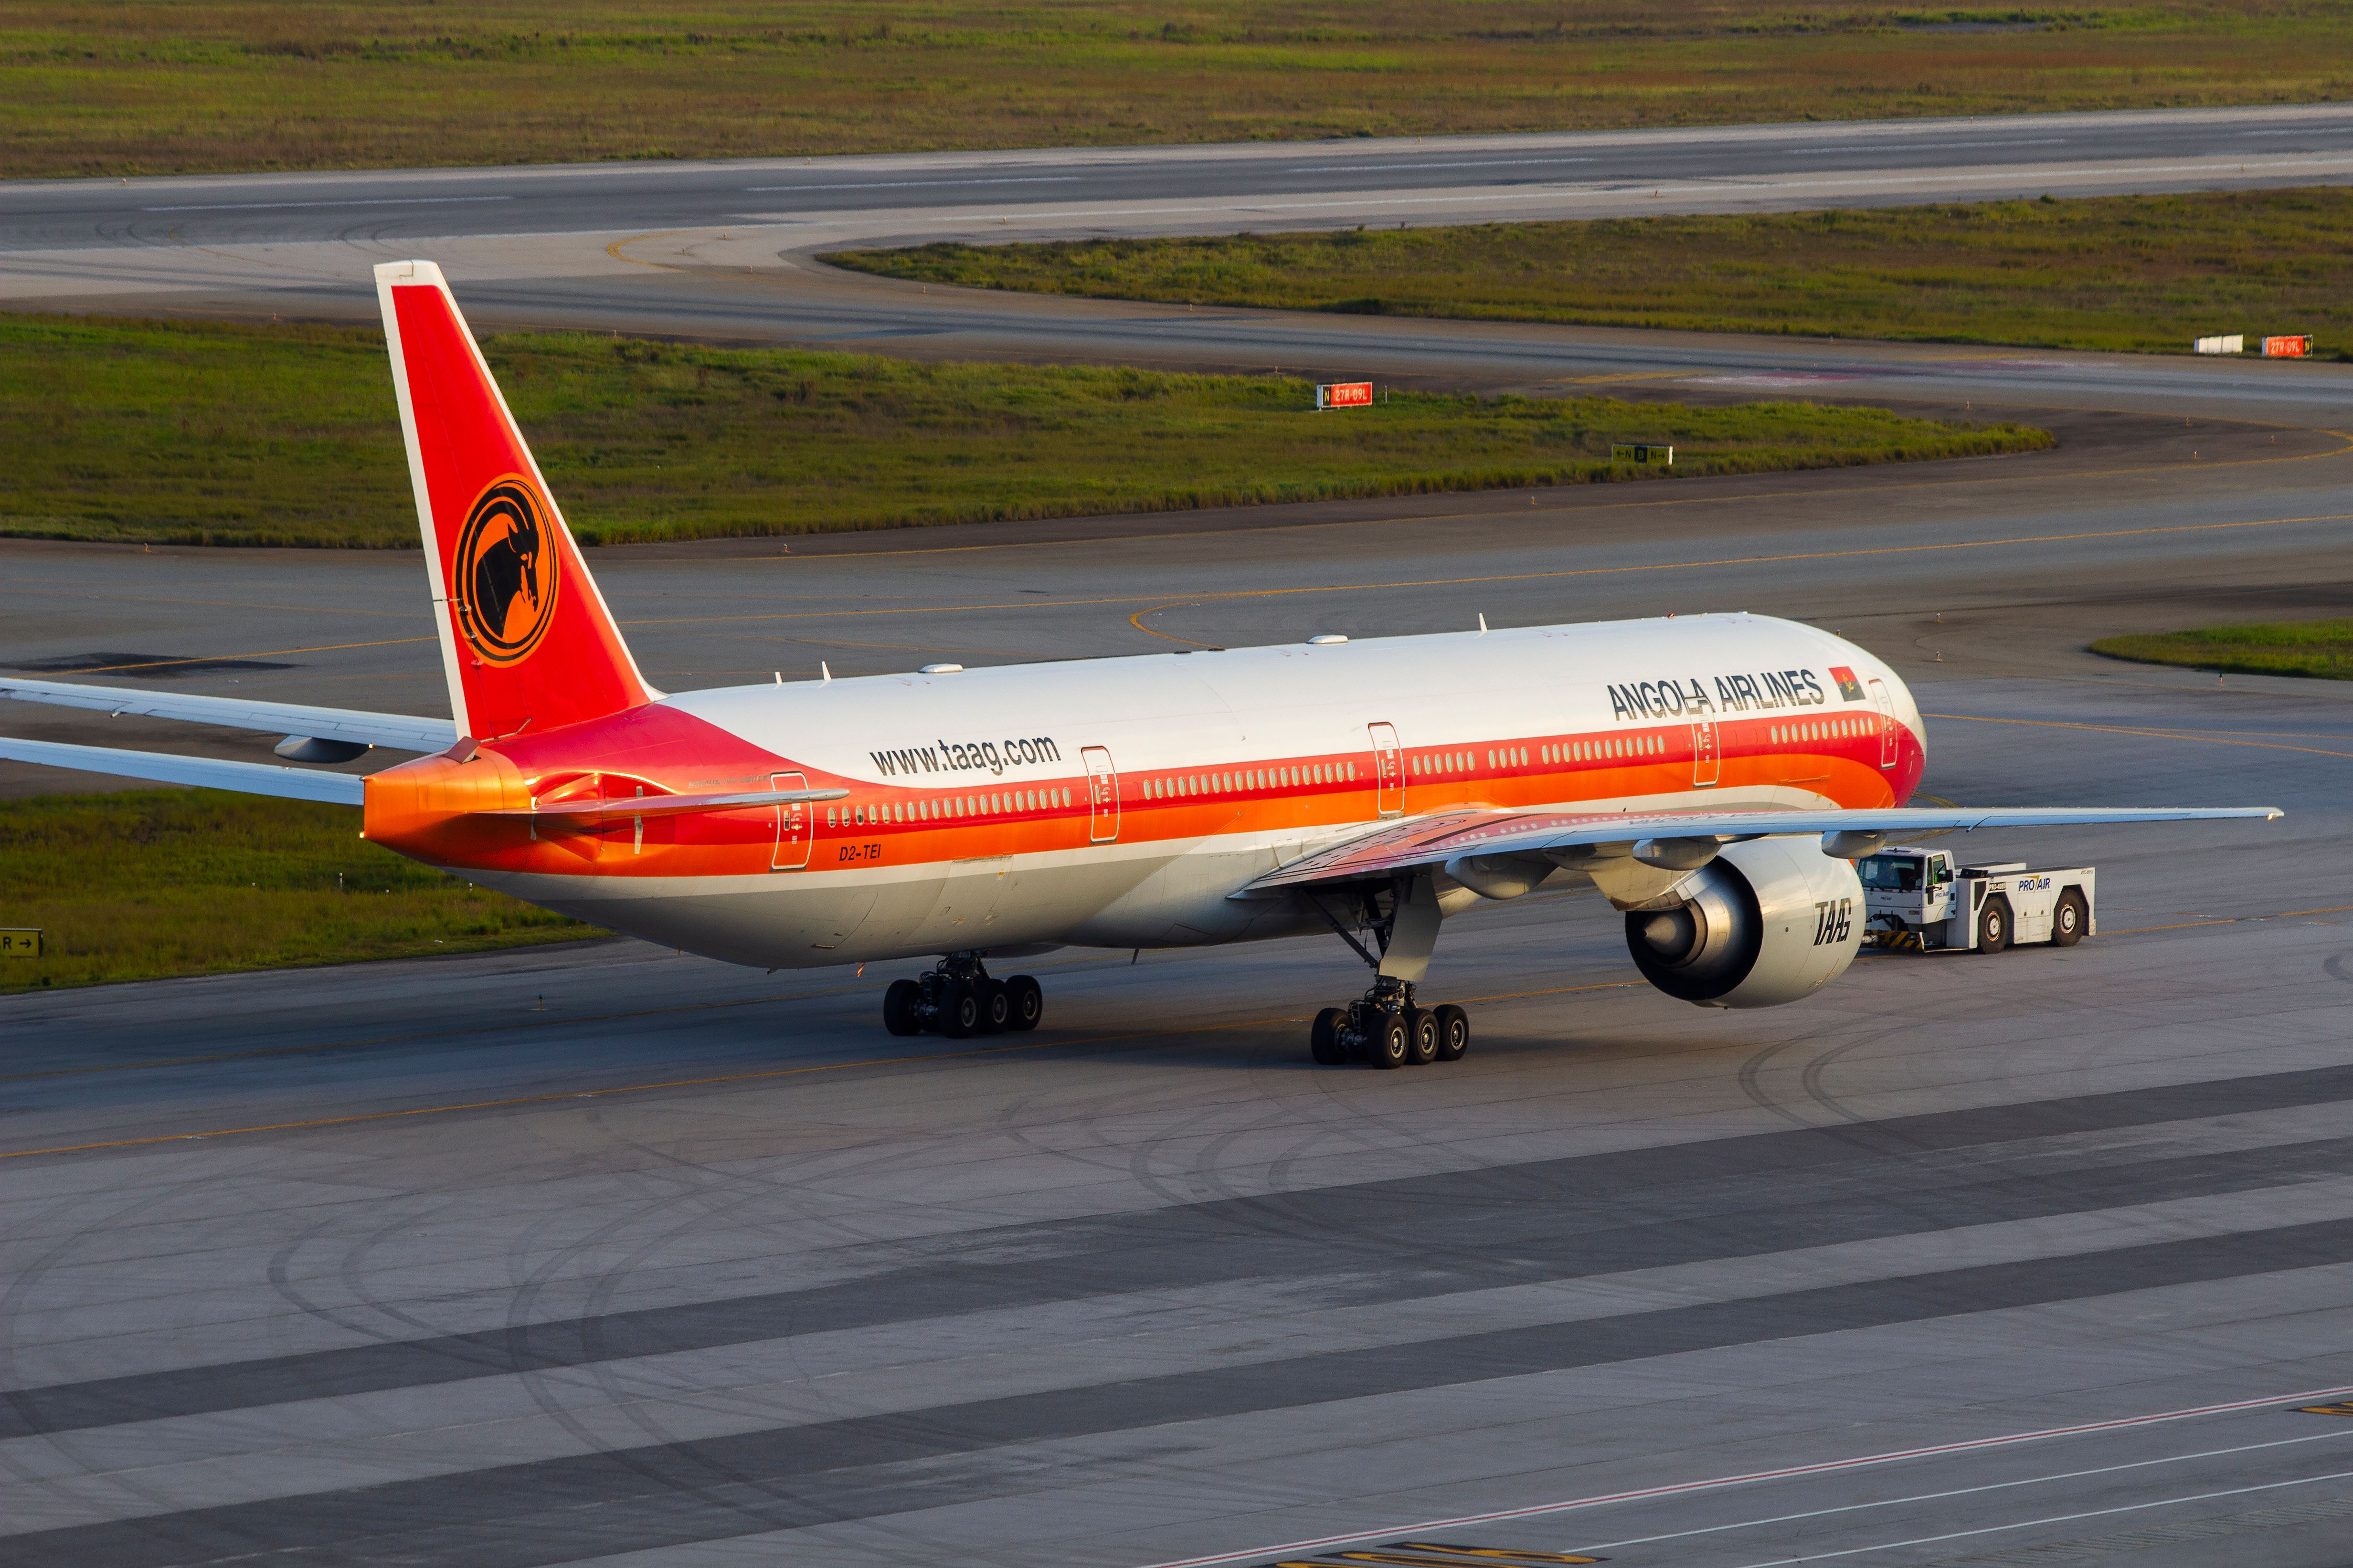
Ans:
POLYGON ((873 675, 661 703, 849 795, 809 813, 807 844, 779 849, 781 867, 715 867, 640 842, 579 872, 466 875, 765 966, 1228 943, 1322 929, 1297 900, 1235 893, 1384 818, 1892 804, 1920 762, 1920 717, 1892 670, 1819 628, 1746 614, 873 675), (1838 738, 1824 741, 1833 726, 1838 738))

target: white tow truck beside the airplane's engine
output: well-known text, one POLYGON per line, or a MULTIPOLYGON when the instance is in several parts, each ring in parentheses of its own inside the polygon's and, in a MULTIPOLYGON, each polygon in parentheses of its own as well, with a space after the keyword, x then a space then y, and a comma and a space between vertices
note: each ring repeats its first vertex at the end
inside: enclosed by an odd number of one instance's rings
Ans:
POLYGON ((1889 846, 1854 863, 1864 924, 1880 947, 2000 952, 2012 943, 2073 947, 2094 926, 2089 865, 2031 870, 1958 865, 1946 849, 1889 846))

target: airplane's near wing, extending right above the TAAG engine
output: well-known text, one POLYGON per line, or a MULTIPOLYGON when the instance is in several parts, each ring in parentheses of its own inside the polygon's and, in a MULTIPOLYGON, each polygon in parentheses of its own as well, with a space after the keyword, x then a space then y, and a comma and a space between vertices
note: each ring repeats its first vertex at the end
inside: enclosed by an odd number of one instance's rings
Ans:
MULTIPOLYGON (((1901 837, 1929 830, 2068 827, 2085 823, 2200 823, 2285 816, 2278 806, 1889 806, 1885 811, 1447 811, 1386 823, 1266 872, 1245 889, 1384 879, 1445 865, 1457 856, 1541 856, 1551 849, 1697 839, 1729 844, 1798 832, 1873 832, 1901 837)), ((1697 849, 1697 846, 1694 846, 1697 849)), ((1621 851, 1624 853, 1624 851, 1621 851)))

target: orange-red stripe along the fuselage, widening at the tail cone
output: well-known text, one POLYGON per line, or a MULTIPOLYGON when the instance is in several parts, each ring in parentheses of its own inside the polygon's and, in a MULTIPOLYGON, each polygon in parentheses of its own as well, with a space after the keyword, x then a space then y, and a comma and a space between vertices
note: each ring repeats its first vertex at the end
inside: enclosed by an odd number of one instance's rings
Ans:
MULTIPOLYGON (((1805 726, 1718 722, 1720 769, 1713 788, 1692 785, 1689 724, 1405 748, 1402 813, 1577 806, 1628 797, 1657 802, 1671 795, 1687 795, 1697 804, 1727 790, 1762 788, 1802 788, 1849 809, 1908 799, 1925 764, 1918 738, 1899 731, 1899 762, 1880 769, 1878 715, 1849 710, 1831 722, 1838 719, 1854 719, 1859 733, 1784 738, 1802 736, 1805 726), (1649 755, 1607 755, 1612 745, 1631 750, 1638 743, 1657 748, 1649 755), (1501 762, 1504 755, 1522 752, 1525 762, 1501 762), (1499 759, 1489 764, 1489 755, 1499 759), (1454 759, 1452 771, 1447 757, 1454 759)), ((569 877, 762 875, 776 860, 776 806, 652 818, 614 811, 605 818, 565 820, 473 813, 579 792, 628 797, 635 790, 755 790, 784 771, 802 773, 812 790, 849 790, 840 802, 807 809, 809 870, 1075 851, 1094 842, 1085 773, 986 790, 880 785, 776 757, 661 703, 544 736, 485 743, 468 762, 445 752, 384 769, 367 780, 365 837, 459 870, 569 877), (1005 806, 1024 795, 1054 804, 1005 806), (986 806, 991 799, 998 804, 986 806), (1071 804, 1064 806, 1064 799, 1071 804)), ((1372 752, 1144 769, 1122 773, 1118 792, 1118 842, 1127 846, 1315 835, 1379 820, 1372 752), (1315 769, 1325 771, 1327 783, 1313 783, 1315 769)))

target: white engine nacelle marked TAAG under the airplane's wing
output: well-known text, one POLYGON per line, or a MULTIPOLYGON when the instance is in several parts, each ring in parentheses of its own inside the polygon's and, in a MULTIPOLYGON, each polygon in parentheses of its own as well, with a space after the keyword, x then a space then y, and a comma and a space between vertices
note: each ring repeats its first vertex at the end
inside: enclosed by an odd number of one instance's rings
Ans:
POLYGON ((1699 1006, 1779 1006, 1847 973, 1864 945, 1852 860, 1812 837, 1727 844, 1647 910, 1626 912, 1642 978, 1699 1006))

